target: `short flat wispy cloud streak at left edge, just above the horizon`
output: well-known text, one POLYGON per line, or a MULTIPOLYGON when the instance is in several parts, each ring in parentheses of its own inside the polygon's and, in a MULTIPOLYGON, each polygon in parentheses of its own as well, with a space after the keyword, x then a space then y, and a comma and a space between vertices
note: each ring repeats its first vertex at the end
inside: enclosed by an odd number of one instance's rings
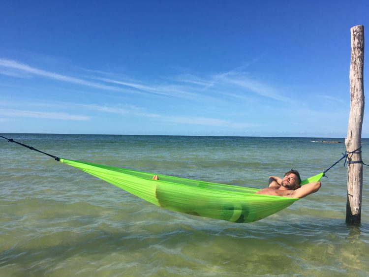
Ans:
POLYGON ((66 113, 50 113, 50 112, 12 110, 12 109, 0 109, 0 116, 57 119, 57 120, 77 120, 77 121, 85 121, 91 119, 91 117, 88 116, 70 115, 66 113))

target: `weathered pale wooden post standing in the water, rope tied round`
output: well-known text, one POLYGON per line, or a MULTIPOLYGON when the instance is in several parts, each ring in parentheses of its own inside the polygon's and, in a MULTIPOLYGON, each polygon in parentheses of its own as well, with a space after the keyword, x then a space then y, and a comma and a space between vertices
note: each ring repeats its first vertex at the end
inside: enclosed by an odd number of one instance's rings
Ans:
POLYGON ((360 224, 363 190, 361 158, 361 130, 364 117, 364 26, 351 28, 350 115, 348 119, 346 151, 359 149, 347 157, 346 224, 360 224), (350 163, 358 162, 358 163, 350 163))

